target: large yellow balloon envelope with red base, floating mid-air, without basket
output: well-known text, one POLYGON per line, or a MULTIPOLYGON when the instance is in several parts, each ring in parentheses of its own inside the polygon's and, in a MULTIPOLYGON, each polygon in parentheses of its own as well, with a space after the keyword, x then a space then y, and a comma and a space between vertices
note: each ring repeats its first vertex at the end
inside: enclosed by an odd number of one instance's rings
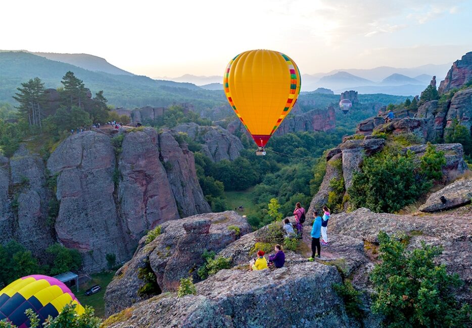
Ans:
POLYGON ((300 71, 284 53, 249 50, 226 67, 224 92, 234 113, 263 148, 300 93, 300 71))

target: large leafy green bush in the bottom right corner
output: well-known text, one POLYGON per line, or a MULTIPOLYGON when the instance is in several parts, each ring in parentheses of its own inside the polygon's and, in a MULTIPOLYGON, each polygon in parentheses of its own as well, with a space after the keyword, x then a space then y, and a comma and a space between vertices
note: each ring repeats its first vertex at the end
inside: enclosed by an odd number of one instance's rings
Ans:
POLYGON ((375 264, 371 281, 376 292, 372 312, 382 314, 388 327, 467 327, 471 308, 460 306, 454 290, 461 286, 457 274, 446 265, 436 265, 442 253, 437 246, 421 243, 406 251, 406 245, 380 232, 380 264, 375 264))

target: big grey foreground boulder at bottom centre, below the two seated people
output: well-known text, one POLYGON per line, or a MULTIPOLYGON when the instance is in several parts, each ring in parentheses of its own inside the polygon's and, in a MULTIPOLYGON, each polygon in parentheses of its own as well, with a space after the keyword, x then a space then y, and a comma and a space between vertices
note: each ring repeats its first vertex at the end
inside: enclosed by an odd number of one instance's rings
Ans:
POLYGON ((273 271, 221 270, 196 284, 196 296, 169 295, 138 303, 108 326, 350 327, 334 283, 341 283, 336 268, 317 262, 273 271))

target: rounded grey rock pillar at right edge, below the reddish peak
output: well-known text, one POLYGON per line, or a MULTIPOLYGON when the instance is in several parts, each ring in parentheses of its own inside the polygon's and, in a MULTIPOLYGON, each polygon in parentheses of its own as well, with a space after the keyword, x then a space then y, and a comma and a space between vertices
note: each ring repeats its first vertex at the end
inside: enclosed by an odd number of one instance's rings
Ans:
MULTIPOLYGON (((472 52, 470 52, 472 54, 472 52)), ((472 67, 471 67, 472 69, 472 67)), ((452 125, 453 120, 466 127, 472 133, 472 88, 457 91, 451 99, 446 116, 446 128, 452 125)), ((450 133, 447 129, 444 134, 450 133)))

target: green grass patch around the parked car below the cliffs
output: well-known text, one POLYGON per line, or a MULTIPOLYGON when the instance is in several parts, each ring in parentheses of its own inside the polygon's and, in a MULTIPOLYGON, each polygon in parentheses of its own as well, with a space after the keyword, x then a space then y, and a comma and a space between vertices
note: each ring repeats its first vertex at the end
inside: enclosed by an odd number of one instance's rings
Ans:
POLYGON ((72 292, 75 294, 77 299, 79 300, 82 306, 88 305, 95 309, 95 315, 101 318, 105 317, 105 290, 107 289, 108 284, 113 279, 115 272, 113 271, 104 271, 100 272, 99 274, 90 275, 92 280, 89 282, 82 284, 79 288, 79 292, 76 293, 75 289, 72 288, 72 292), (90 296, 85 296, 85 291, 92 287, 93 285, 100 285, 102 290, 97 294, 93 294, 90 296))

